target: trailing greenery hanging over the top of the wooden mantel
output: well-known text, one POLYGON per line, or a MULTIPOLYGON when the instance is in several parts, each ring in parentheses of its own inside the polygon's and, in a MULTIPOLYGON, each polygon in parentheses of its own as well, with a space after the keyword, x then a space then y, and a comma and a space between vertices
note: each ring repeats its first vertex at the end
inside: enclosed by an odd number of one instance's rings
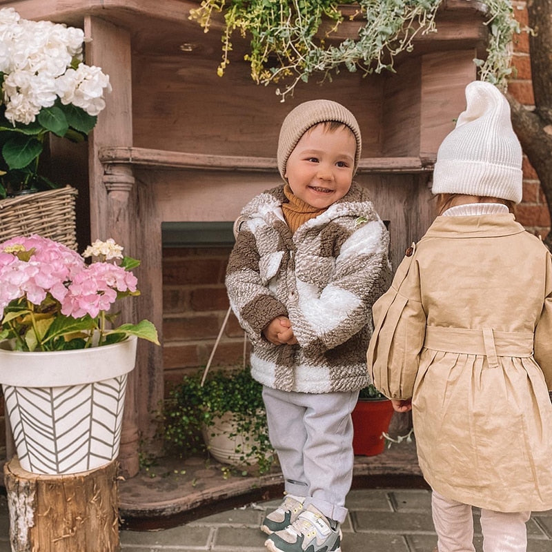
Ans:
MULTIPOLYGON (((236 30, 250 38, 245 56, 251 77, 258 84, 285 83, 276 93, 286 99, 297 83, 307 82, 313 74, 331 79, 332 72, 346 68, 364 75, 394 71, 393 62, 400 52, 413 50, 419 34, 435 32, 435 15, 443 0, 203 0, 190 10, 193 19, 208 32, 217 13, 224 15, 222 60, 218 75, 230 63, 232 37, 236 30), (353 5, 349 19, 362 21, 357 38, 334 43, 329 37, 344 21, 342 8, 353 5), (324 19, 331 30, 321 37, 324 19)), ((465 0, 471 2, 471 0, 465 0)), ((511 72, 511 39, 520 32, 513 19, 510 0, 488 0, 487 24, 489 48, 485 61, 475 60, 481 78, 505 86, 511 72)), ((349 8, 351 9, 351 8, 349 8)))

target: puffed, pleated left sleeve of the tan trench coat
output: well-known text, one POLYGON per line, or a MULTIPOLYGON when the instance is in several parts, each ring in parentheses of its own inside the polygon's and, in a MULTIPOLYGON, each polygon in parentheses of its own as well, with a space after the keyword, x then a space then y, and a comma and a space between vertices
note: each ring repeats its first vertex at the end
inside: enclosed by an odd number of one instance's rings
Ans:
POLYGON ((408 399, 413 395, 426 332, 415 257, 404 257, 391 288, 375 302, 373 317, 368 371, 386 397, 408 399))

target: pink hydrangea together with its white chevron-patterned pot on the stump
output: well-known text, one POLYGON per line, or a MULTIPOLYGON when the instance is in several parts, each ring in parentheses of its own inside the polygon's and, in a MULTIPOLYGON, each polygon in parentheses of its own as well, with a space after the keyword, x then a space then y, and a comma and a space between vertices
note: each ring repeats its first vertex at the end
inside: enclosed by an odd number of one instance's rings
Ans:
POLYGON ((159 344, 148 320, 116 326, 109 313, 139 295, 139 261, 122 249, 108 239, 81 256, 38 235, 0 244, 0 384, 27 471, 88 471, 117 457, 137 338, 159 344))

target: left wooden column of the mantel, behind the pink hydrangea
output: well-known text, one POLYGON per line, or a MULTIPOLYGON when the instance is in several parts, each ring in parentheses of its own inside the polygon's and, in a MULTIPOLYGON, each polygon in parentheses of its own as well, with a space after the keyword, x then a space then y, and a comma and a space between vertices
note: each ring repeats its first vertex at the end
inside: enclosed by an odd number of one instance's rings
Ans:
MULTIPOLYGON (((99 160, 99 150, 106 146, 132 146, 132 55, 130 33, 98 17, 84 19, 86 61, 99 66, 110 77, 112 92, 106 95, 106 108, 98 116, 92 130, 88 166, 90 168, 90 234, 95 239, 115 239, 130 257, 139 257, 136 249, 135 179, 130 166, 109 166, 99 160)), ((136 311, 132 301, 121 304, 121 322, 139 322, 146 318, 136 311)), ((137 357, 134 373, 128 378, 127 395, 119 462, 124 477, 138 473, 139 428, 137 422, 136 372, 140 370, 141 355, 137 357)))

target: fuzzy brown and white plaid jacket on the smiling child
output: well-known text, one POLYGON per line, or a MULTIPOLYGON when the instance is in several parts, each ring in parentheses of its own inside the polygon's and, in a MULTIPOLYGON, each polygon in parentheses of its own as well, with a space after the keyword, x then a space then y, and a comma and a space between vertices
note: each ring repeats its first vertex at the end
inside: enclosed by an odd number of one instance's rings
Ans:
POLYGON ((388 232, 356 184, 293 235, 283 201, 279 186, 244 207, 226 273, 230 304, 253 344, 253 377, 282 391, 356 391, 369 381, 371 307, 391 284, 388 232), (299 344, 263 337, 279 315, 299 344))

